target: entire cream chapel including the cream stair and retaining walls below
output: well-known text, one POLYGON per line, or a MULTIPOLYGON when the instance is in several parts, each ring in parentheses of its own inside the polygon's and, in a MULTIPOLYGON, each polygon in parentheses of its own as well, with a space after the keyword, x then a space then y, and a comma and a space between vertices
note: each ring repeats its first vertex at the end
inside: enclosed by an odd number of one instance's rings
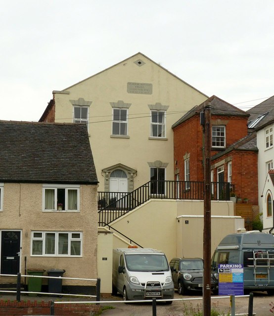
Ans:
MULTIPOLYGON (((117 193, 119 199, 119 193, 134 193, 150 180, 174 180, 171 126, 207 98, 137 53, 68 88, 54 90, 40 121, 86 123, 98 192, 101 197, 106 196, 103 193, 117 193)), ((103 293, 111 293, 112 289, 112 248, 127 247, 130 239, 143 247, 164 251, 168 259, 202 256, 203 201, 153 199, 151 194, 165 195, 163 187, 146 188, 150 199, 145 203, 114 221, 98 220, 103 225, 110 223, 112 228, 109 231, 104 226, 98 230, 97 271, 103 293)), ((125 202, 119 204, 118 210, 107 210, 107 217, 129 204, 125 202)), ((105 205, 98 206, 102 214, 105 205)), ((232 202, 215 202, 213 207, 217 233, 212 251, 223 234, 243 227, 243 221, 234 216, 232 202)))

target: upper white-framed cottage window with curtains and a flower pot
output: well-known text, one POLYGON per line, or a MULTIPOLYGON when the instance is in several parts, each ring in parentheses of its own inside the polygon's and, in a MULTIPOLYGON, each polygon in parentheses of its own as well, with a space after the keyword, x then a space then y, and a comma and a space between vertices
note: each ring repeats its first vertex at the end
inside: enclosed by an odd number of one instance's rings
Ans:
POLYGON ((44 187, 44 211, 79 211, 79 187, 44 187))

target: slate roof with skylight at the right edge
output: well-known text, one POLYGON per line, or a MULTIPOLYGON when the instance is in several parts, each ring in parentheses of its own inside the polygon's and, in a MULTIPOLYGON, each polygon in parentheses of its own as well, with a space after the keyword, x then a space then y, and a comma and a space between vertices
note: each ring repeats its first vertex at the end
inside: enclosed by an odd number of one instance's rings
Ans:
POLYGON ((252 127, 256 130, 265 127, 269 123, 272 123, 274 121, 274 96, 256 105, 247 112, 250 114, 250 117, 248 119, 249 126, 258 118, 258 123, 254 124, 254 126, 252 127))

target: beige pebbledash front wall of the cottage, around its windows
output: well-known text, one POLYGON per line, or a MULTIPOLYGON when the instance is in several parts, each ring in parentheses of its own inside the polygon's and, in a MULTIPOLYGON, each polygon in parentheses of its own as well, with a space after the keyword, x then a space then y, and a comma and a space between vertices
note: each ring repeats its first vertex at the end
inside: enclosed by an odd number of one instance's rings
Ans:
MULTIPOLYGON (((97 278, 97 191, 96 185, 80 185, 79 212, 44 212, 43 185, 4 184, 4 209, 0 212, 1 230, 21 231, 20 272, 26 269, 64 269, 64 277, 97 278), (20 203, 19 203, 20 200, 20 203), (14 205, 14 202, 16 204, 14 205), (82 256, 32 256, 32 231, 83 232, 82 256), (26 261, 24 258, 26 257, 26 261)), ((46 273, 45 273, 46 275, 46 273)), ((1 277, 16 282, 16 277, 1 277)), ((63 279, 64 286, 94 286, 93 281, 63 279)), ((43 279, 47 284, 47 279, 43 279)))

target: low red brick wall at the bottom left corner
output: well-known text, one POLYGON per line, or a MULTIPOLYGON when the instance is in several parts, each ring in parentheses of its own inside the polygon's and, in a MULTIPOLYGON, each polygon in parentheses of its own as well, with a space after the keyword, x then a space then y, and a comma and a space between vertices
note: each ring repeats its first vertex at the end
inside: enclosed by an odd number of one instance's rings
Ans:
MULTIPOLYGON (((0 300, 0 316, 16 315, 50 315, 51 301, 17 302, 16 300, 0 300)), ((54 315, 58 316, 90 316, 97 313, 100 306, 96 304, 55 304, 54 315)))

